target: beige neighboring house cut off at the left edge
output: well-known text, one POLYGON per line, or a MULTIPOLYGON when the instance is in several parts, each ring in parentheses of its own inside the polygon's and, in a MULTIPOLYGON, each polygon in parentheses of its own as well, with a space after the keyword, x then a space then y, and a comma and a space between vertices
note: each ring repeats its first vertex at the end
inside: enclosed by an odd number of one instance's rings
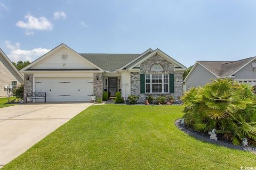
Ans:
POLYGON ((10 96, 12 90, 23 84, 23 76, 0 48, 0 97, 10 96))

